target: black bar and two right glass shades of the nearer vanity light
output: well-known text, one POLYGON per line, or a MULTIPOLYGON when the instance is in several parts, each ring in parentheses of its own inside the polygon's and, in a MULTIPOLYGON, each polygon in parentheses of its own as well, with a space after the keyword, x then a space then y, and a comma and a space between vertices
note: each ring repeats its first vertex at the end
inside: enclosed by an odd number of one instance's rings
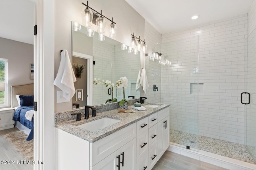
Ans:
POLYGON ((99 33, 104 33, 105 32, 106 19, 108 19, 109 21, 111 21, 111 24, 110 24, 110 37, 115 37, 116 36, 116 23, 113 21, 113 18, 112 18, 112 20, 110 20, 106 16, 102 15, 102 10, 100 10, 100 13, 99 13, 96 10, 92 9, 90 6, 88 6, 88 1, 87 1, 87 5, 84 4, 84 3, 82 3, 82 4, 84 6, 86 6, 87 8, 90 8, 91 10, 93 10, 96 14, 100 14, 100 17, 96 18, 96 25, 98 26, 98 32, 99 33))

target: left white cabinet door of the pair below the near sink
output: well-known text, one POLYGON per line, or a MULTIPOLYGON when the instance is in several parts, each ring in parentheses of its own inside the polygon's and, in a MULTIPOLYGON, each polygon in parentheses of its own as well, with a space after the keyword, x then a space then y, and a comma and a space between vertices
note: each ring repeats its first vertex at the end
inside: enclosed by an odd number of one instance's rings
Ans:
POLYGON ((98 162, 98 164, 94 165, 91 170, 118 170, 118 164, 120 165, 121 169, 121 164, 119 163, 121 158, 118 159, 118 155, 119 150, 116 150, 114 153, 110 154, 105 159, 98 162))

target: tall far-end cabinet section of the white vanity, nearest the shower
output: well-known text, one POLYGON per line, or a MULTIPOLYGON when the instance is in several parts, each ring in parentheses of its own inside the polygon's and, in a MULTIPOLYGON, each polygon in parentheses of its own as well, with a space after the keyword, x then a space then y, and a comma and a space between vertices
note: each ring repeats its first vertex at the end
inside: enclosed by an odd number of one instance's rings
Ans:
POLYGON ((170 115, 169 108, 158 111, 157 123, 157 155, 159 160, 170 145, 170 115), (160 118, 160 119, 159 119, 160 118))

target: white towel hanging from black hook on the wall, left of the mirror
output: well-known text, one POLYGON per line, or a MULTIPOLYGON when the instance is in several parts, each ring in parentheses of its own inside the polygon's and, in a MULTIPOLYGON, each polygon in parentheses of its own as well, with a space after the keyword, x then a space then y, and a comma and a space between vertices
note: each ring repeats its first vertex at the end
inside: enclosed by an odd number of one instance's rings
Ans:
POLYGON ((68 51, 63 50, 60 54, 60 67, 53 84, 63 91, 64 98, 70 100, 76 92, 74 86, 74 82, 76 82, 76 76, 70 63, 68 51))

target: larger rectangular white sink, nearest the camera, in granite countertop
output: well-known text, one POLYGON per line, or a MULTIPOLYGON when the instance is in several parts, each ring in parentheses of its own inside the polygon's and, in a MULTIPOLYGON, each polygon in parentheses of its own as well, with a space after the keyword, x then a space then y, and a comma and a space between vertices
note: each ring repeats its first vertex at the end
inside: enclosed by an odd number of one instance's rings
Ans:
POLYGON ((104 127, 107 127, 109 125, 113 125, 114 123, 117 123, 119 121, 120 120, 117 120, 117 119, 103 117, 101 119, 97 119, 97 120, 94 120, 94 121, 90 121, 88 123, 84 123, 82 125, 78 125, 78 127, 81 127, 85 130, 94 132, 94 131, 97 131, 97 130, 102 129, 104 127))

